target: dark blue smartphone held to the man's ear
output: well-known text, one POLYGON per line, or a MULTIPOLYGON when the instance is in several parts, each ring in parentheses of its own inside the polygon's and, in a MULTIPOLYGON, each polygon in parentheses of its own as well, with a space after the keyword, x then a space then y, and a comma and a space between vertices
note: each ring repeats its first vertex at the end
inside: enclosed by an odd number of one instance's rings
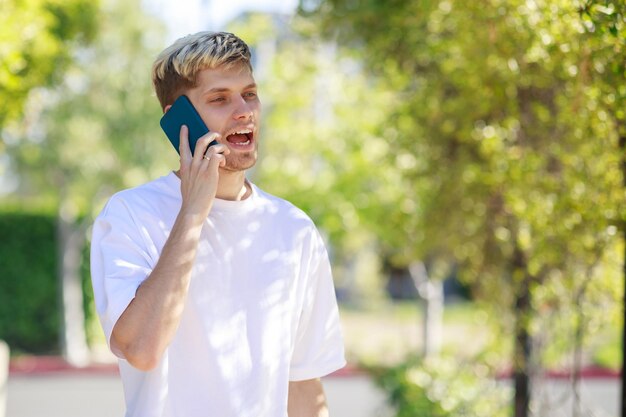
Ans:
MULTIPOLYGON (((209 133, 209 129, 202 121, 202 117, 200 117, 189 98, 185 95, 178 97, 174 101, 172 107, 161 117, 160 124, 161 129, 163 129, 172 146, 179 154, 180 128, 183 125, 186 125, 189 129, 189 148, 192 155, 196 150, 198 139, 209 133)), ((209 147, 217 144, 218 142, 214 140, 209 144, 209 147)))

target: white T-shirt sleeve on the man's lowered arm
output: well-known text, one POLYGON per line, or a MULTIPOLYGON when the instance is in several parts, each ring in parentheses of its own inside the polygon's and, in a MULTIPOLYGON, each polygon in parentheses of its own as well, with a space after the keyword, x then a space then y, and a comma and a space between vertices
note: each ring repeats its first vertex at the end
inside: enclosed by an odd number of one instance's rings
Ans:
POLYGON ((326 247, 315 231, 291 357, 290 381, 320 378, 345 366, 337 298, 326 247))

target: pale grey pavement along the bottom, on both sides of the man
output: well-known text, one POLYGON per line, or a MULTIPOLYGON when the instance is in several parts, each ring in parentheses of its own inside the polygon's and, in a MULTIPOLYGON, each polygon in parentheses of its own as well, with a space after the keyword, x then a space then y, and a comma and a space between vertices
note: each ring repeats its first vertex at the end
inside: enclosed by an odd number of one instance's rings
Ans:
MULTIPOLYGON (((333 417, 388 417, 383 394, 362 373, 323 379, 333 417)), ((505 382, 507 383, 507 382, 505 382)), ((572 416, 572 396, 566 379, 549 380, 542 387, 537 415, 572 416)), ((618 378, 588 378, 582 382, 585 417, 617 417, 618 378)), ((122 385, 112 368, 9 375, 7 417, 123 417, 122 385)))

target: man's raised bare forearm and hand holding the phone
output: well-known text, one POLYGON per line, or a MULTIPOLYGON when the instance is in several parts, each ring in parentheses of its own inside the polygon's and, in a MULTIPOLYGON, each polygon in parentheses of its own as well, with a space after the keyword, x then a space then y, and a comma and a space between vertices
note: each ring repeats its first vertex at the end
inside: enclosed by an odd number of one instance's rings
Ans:
POLYGON ((210 159, 203 159, 215 137, 200 139, 192 157, 187 130, 181 129, 180 212, 152 273, 113 327, 111 348, 143 371, 158 365, 185 306, 202 226, 217 192, 218 168, 224 163, 219 152, 228 153, 224 145, 212 146, 207 152, 210 159))

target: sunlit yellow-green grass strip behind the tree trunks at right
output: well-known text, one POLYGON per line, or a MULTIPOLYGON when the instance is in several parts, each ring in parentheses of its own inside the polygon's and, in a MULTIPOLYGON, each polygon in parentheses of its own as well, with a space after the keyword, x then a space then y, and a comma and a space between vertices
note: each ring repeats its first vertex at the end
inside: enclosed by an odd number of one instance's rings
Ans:
MULTIPOLYGON (((423 349, 423 312, 417 301, 379 302, 367 307, 340 305, 350 363, 394 365, 423 349)), ((512 336, 492 330, 487 313, 476 304, 446 304, 441 351, 459 358, 488 352, 492 363, 507 367, 512 336), (497 359, 500 358, 500 359, 497 359)), ((594 335, 585 346, 586 365, 621 367, 621 329, 612 326, 594 335)), ((558 366, 558 365, 557 365, 558 366)))

